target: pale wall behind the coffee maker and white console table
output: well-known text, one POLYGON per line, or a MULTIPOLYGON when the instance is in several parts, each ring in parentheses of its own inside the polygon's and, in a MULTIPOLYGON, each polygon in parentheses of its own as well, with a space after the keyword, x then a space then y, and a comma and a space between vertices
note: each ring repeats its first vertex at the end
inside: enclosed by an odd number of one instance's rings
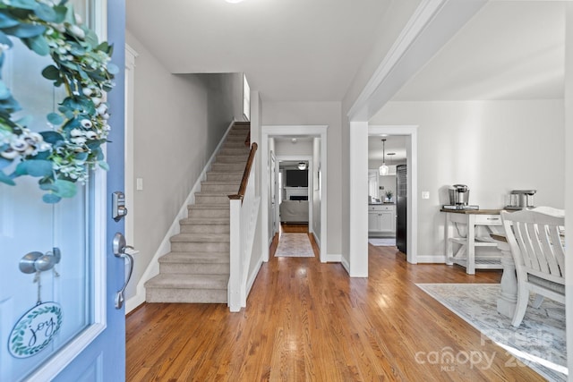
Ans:
POLYGON ((442 255, 447 188, 470 188, 470 204, 502 208, 511 190, 564 208, 562 100, 390 102, 372 124, 419 124, 418 256, 442 255))

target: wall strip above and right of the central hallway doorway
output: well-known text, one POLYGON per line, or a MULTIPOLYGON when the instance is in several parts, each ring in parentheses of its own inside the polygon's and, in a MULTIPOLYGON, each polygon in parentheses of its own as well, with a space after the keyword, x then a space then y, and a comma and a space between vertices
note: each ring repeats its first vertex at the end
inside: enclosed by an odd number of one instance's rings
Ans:
MULTIPOLYGON (((328 252, 340 254, 342 203, 342 177, 340 174, 341 136, 339 102, 264 102, 262 124, 264 125, 328 125, 328 252)), ((312 153, 312 151, 311 151, 312 153)))

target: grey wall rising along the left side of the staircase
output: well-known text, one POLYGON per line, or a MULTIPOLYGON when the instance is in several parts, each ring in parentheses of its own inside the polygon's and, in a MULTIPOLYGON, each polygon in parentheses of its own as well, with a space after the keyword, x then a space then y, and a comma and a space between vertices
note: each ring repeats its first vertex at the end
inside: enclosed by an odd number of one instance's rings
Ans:
POLYGON ((232 116, 221 109, 227 123, 218 119, 211 125, 213 96, 205 81, 192 74, 171 74, 129 31, 125 38, 139 54, 134 71, 133 174, 143 179, 142 191, 126 195, 134 199, 129 211, 134 237, 127 241, 140 251, 126 290, 130 299, 232 116))

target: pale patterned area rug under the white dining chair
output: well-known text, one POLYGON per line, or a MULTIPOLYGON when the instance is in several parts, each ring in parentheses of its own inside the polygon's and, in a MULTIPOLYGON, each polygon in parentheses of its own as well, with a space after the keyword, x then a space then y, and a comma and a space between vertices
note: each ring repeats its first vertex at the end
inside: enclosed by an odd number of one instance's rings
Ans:
POLYGON ((565 306, 545 298, 527 306, 519 327, 497 311, 500 284, 416 284, 543 378, 567 380, 565 306))

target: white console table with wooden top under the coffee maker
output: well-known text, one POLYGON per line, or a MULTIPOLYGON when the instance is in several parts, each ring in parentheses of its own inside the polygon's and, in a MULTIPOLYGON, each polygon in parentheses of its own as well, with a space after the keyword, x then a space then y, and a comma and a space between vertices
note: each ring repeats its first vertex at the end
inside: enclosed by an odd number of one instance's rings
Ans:
POLYGON ((446 213, 445 226, 445 254, 446 264, 458 264, 466 267, 468 275, 475 275, 475 269, 502 269, 500 250, 497 249, 497 242, 490 233, 498 233, 496 227, 501 228, 500 209, 441 209, 446 213), (460 235, 459 225, 465 225, 466 235, 460 235), (489 232, 487 236, 477 236, 476 229, 479 226, 485 227, 489 232), (458 234, 456 234, 458 233, 458 234), (454 253, 454 244, 458 244, 458 249, 454 253), (476 254, 475 249, 479 247, 491 247, 492 254, 476 254))

